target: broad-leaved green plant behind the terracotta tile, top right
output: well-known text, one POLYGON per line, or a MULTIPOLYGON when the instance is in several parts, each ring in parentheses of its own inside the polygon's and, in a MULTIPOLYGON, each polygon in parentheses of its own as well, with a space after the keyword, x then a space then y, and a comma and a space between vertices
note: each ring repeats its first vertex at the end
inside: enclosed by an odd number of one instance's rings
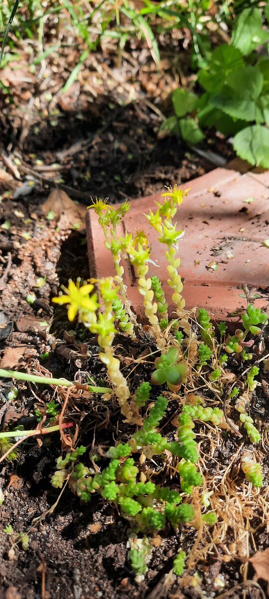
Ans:
MULTIPOLYGON (((264 17, 269 22, 268 5, 264 17)), ((233 136, 240 158, 268 168, 269 59, 255 52, 268 41, 261 10, 245 8, 236 21, 231 44, 217 47, 198 72, 203 95, 176 89, 172 96, 175 116, 162 128, 194 145, 204 140, 203 129, 214 126, 226 137, 233 136)))

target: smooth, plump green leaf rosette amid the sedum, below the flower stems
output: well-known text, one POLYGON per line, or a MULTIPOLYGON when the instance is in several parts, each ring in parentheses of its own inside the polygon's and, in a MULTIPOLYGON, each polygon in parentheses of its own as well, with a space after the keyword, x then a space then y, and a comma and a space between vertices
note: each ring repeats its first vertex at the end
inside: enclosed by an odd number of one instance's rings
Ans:
POLYGON ((170 391, 179 391, 188 374, 187 364, 177 363, 180 355, 181 352, 178 347, 169 347, 166 353, 155 359, 156 370, 151 375, 151 381, 154 385, 164 385, 166 383, 170 391))

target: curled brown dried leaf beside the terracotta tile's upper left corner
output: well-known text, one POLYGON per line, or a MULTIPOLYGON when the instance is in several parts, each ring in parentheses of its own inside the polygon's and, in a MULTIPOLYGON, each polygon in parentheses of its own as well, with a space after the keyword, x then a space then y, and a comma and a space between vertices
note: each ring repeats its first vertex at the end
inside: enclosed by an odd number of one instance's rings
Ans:
POLYGON ((42 212, 48 214, 52 210, 59 218, 58 226, 62 231, 84 228, 86 208, 81 204, 75 204, 69 195, 62 189, 53 189, 47 201, 42 205, 42 212))

